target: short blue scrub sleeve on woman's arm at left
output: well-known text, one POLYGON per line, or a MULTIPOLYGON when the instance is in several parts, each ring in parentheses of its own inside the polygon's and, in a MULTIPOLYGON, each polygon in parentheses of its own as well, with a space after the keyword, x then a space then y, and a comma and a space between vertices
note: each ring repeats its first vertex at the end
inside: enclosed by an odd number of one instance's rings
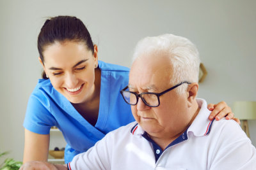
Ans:
POLYGON ((29 97, 23 126, 31 132, 49 134, 56 120, 51 114, 50 101, 42 91, 33 92, 29 97))

